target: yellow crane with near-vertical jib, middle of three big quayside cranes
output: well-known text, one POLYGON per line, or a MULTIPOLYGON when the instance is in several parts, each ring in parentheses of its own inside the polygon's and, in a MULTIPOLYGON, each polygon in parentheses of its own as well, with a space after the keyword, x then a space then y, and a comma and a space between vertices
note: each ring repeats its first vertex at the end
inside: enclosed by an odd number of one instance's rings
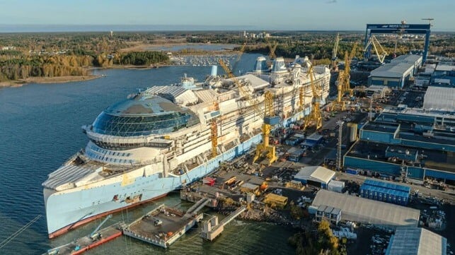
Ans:
POLYGON ((314 82, 314 72, 313 65, 309 66, 308 76, 310 76, 311 82, 311 93, 313 94, 313 99, 311 100, 311 112, 304 119, 304 129, 314 123, 316 130, 321 129, 322 127, 322 116, 321 116, 321 93, 322 88, 321 84, 316 84, 314 82))

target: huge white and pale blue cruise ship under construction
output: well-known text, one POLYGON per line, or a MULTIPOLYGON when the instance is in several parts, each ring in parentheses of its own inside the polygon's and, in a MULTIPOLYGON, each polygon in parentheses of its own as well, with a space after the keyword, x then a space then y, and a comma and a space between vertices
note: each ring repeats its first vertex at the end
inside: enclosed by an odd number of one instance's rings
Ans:
MULTIPOLYGON (((93 124, 82 126, 86 147, 42 184, 49 237, 166 196, 255 148, 262 140, 263 117, 253 105, 263 109, 265 91, 274 95, 280 125, 301 119, 311 105, 308 69, 308 59, 286 64, 277 58, 269 68, 259 57, 253 71, 236 82, 216 76, 212 69, 204 83, 156 85, 108 107, 93 124), (299 112, 302 86, 305 110, 299 112), (214 118, 216 157, 211 139, 214 118)), ((313 66, 313 73, 326 98, 329 69, 313 66)))

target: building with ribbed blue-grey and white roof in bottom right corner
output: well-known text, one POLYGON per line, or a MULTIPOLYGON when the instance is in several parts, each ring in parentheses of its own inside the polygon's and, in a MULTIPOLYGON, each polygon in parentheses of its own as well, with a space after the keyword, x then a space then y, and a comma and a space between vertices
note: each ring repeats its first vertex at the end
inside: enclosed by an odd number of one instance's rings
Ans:
POLYGON ((446 255, 447 239, 421 227, 397 227, 386 255, 446 255))

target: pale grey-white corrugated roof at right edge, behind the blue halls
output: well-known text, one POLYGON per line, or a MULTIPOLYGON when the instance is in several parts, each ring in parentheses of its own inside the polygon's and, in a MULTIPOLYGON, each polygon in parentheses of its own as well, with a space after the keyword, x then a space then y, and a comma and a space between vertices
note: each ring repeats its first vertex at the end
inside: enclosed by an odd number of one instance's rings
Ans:
POLYGON ((429 86, 423 97, 424 109, 455 111, 455 88, 429 86))

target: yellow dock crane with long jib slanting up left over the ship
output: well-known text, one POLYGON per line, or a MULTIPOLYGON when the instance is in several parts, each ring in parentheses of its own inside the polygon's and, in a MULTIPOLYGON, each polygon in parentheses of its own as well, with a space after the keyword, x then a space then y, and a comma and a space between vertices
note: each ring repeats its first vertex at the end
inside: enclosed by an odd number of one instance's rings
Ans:
POLYGON ((261 128, 262 134, 263 134, 263 143, 258 144, 256 146, 256 153, 255 157, 253 159, 253 162, 258 160, 261 155, 263 155, 264 152, 267 152, 265 155, 268 160, 269 164, 272 164, 273 162, 277 161, 277 153, 276 153, 276 148, 275 146, 271 146, 269 144, 269 139, 270 139, 270 131, 272 131, 272 125, 278 124, 280 122, 279 117, 275 116, 275 110, 273 107, 273 95, 269 91, 266 91, 264 94, 264 110, 260 109, 258 106, 258 102, 255 102, 251 97, 250 93, 246 91, 245 88, 243 88, 243 85, 241 84, 240 81, 234 76, 234 73, 232 73, 231 69, 229 69, 229 66, 227 66, 222 59, 218 60, 220 66, 226 71, 227 76, 234 81, 234 83, 237 85, 238 91, 241 94, 241 96, 246 97, 248 102, 250 102, 250 105, 253 106, 254 111, 263 116, 264 121, 263 121, 263 126, 261 128))

